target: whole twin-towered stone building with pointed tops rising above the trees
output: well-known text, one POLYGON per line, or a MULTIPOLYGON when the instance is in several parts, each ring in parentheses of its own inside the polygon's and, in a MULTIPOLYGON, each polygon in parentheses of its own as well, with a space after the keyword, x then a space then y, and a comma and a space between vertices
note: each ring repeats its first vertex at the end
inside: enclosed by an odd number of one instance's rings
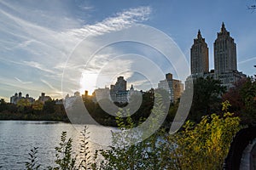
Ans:
POLYGON ((247 77, 242 72, 237 71, 236 43, 234 38, 230 37, 230 32, 226 30, 224 23, 222 23, 217 36, 214 42, 215 70, 209 72, 207 43, 201 37, 201 32, 198 31, 190 51, 191 75, 186 80, 186 86, 189 80, 195 80, 199 77, 213 77, 220 80, 223 86, 231 88, 235 82, 247 77))

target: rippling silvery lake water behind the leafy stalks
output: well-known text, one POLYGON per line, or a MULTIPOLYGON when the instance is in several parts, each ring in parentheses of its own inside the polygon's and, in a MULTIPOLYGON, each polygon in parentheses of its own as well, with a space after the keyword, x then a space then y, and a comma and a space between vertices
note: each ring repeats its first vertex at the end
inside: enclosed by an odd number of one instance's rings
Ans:
MULTIPOLYGON (((1 169, 24 169, 28 153, 38 147, 38 160, 43 167, 55 160, 55 146, 60 143, 61 132, 73 139, 73 149, 79 153, 80 131, 84 126, 65 122, 0 121, 0 167, 1 169)), ((90 153, 111 144, 113 127, 89 126, 90 153)))

